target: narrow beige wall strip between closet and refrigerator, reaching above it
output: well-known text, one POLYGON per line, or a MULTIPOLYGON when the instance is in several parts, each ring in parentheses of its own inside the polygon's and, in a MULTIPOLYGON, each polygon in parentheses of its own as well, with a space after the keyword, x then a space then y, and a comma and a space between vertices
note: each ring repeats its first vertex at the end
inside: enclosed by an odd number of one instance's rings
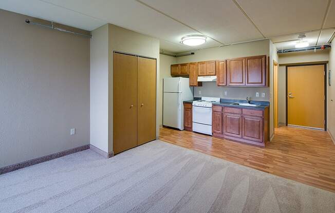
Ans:
POLYGON ((171 77, 170 67, 177 59, 172 56, 159 55, 159 100, 158 100, 158 124, 163 125, 163 78, 171 77))

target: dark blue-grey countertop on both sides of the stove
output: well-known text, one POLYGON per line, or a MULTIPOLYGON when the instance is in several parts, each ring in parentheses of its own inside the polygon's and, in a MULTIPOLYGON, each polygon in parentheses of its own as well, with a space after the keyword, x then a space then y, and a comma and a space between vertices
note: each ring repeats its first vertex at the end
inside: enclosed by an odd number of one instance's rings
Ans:
MULTIPOLYGON (((195 100, 199 100, 201 98, 195 97, 193 100, 184 100, 184 103, 192 103, 195 100)), ((224 99, 221 98, 220 102, 213 102, 213 105, 218 105, 221 107, 233 107, 233 108, 243 108, 243 109, 253 109, 253 110, 264 110, 269 107, 270 103, 268 101, 250 101, 252 104, 257 104, 257 107, 248 107, 241 105, 231 105, 232 103, 247 103, 247 100, 236 100, 236 99, 224 99)))

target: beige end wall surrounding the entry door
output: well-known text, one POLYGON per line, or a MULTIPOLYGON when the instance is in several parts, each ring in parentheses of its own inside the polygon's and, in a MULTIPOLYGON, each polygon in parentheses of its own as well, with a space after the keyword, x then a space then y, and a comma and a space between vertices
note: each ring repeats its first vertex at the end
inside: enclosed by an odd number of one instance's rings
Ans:
MULTIPOLYGON (((286 64, 296 63, 310 63, 310 62, 324 62, 330 59, 329 49, 304 52, 293 52, 293 53, 281 53, 279 54, 280 67, 278 70, 278 122, 280 124, 286 123, 286 64), (283 66, 284 65, 284 66, 283 66)), ((329 67, 329 66, 327 66, 329 67)), ((327 97, 330 100, 330 88, 327 88, 327 97)), ((328 114, 331 110, 330 102, 328 102, 328 114)), ((329 117, 329 116, 327 116, 329 117)), ((331 122, 330 117, 327 118, 328 125, 331 122)))

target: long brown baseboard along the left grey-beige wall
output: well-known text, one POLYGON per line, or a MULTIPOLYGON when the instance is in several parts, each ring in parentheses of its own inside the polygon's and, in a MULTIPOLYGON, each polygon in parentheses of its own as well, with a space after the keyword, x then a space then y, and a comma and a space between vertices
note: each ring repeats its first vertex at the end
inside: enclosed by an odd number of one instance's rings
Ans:
POLYGON ((43 163, 43 162, 46 162, 46 161, 49 161, 49 160, 53 160, 53 159, 56 159, 56 158, 60 158, 60 157, 66 156, 66 155, 70 155, 70 154, 81 152, 81 151, 88 150, 88 149, 89 149, 89 144, 79 146, 79 147, 76 147, 76 148, 71 148, 70 150, 65 150, 65 151, 62 151, 62 152, 59 152, 59 153, 46 155, 46 156, 43 156, 43 157, 40 157, 40 158, 27 160, 27 161, 22 162, 22 163, 16 163, 16 164, 13 164, 13 165, 10 165, 10 166, 5 166, 5 167, 0 168, 0 175, 3 175, 5 173, 9 173, 9 172, 13 172, 13 171, 15 171, 17 169, 20 169, 20 168, 25 168, 25 167, 32 166, 32 165, 35 165, 35 164, 38 164, 38 163, 43 163))

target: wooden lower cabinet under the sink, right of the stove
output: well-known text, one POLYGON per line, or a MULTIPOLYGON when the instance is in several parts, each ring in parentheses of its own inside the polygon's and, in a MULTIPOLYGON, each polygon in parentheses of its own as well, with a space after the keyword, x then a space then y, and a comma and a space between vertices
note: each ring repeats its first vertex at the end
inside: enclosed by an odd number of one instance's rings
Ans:
POLYGON ((218 106, 213 105, 213 136, 263 147, 269 140, 268 108, 249 110, 221 107, 222 112, 214 108, 218 106))

